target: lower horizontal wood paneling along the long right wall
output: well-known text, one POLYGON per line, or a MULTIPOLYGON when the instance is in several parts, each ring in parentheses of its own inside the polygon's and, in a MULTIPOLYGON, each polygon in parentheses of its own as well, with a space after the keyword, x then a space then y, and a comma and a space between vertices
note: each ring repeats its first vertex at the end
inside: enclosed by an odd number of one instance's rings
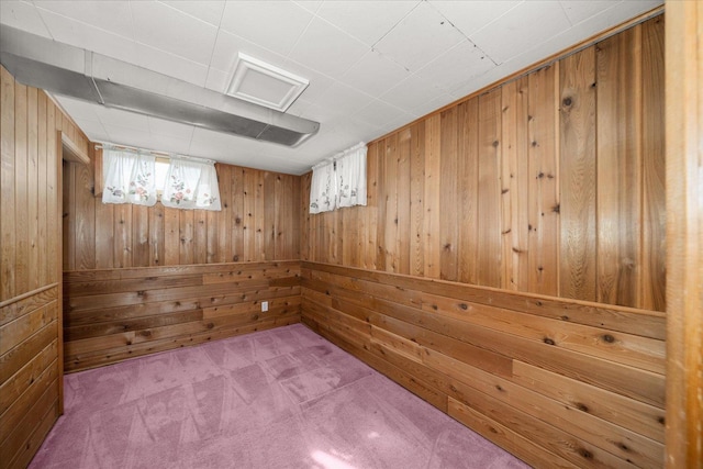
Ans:
POLYGON ((524 460, 661 467, 662 313, 308 261, 301 277, 305 324, 524 460))

